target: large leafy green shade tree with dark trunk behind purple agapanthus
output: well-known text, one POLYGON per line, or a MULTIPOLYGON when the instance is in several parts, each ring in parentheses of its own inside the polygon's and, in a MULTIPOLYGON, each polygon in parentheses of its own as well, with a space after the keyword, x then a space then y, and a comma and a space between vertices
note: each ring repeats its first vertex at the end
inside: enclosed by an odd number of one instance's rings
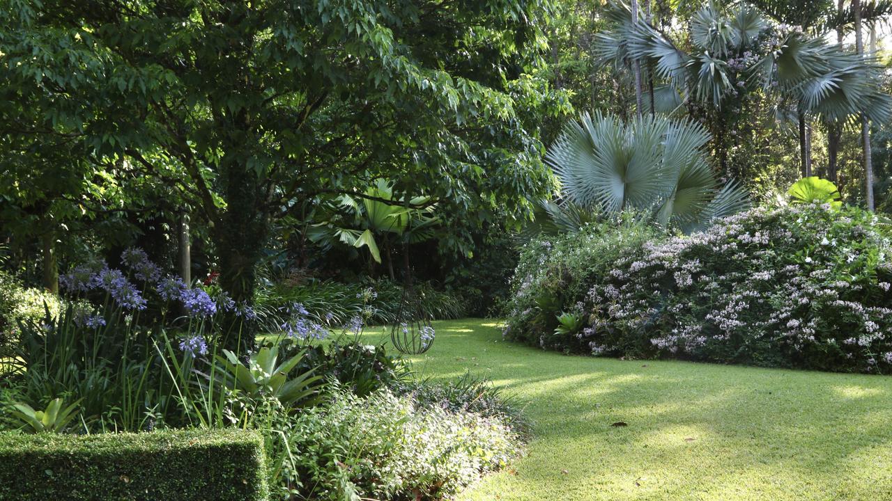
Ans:
POLYGON ((53 144, 37 136, 148 176, 176 166, 170 182, 194 194, 236 301, 252 300, 270 220, 318 194, 385 175, 476 221, 522 214, 545 189, 541 144, 515 110, 544 94, 524 74, 547 0, 2 8, 0 112, 24 121, 4 129, 0 168, 26 138, 53 144))

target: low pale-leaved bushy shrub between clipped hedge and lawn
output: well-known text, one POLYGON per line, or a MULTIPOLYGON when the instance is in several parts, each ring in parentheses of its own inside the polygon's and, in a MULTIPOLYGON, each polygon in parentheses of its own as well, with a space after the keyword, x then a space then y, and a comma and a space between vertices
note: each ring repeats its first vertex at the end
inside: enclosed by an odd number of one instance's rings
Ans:
POLYGON ((519 452, 499 420, 422 407, 387 389, 365 398, 336 392, 285 432, 294 457, 286 489, 298 499, 440 499, 519 452))

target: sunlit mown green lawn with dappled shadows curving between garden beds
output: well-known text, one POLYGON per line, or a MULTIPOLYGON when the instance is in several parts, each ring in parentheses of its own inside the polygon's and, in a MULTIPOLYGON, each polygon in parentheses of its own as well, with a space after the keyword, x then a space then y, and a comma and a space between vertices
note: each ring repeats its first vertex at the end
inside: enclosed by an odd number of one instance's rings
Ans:
POLYGON ((892 376, 566 357, 488 320, 434 326, 418 373, 486 374, 533 421, 527 456, 462 501, 892 499, 892 376))

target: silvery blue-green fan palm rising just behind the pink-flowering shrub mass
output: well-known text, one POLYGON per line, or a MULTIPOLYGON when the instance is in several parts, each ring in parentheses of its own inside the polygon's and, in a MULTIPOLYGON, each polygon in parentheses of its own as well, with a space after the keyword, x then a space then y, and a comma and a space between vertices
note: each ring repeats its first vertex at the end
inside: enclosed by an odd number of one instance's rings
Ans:
POLYGON ((721 185, 706 162, 706 129, 686 120, 643 117, 628 124, 596 112, 569 122, 546 161, 566 201, 617 212, 651 210, 685 231, 745 209, 747 195, 721 185))

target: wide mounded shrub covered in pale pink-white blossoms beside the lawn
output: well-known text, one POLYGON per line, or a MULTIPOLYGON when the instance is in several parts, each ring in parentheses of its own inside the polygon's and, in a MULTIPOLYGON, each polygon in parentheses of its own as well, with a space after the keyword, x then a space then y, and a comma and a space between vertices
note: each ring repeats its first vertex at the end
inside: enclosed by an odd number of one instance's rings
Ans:
MULTIPOLYGON (((626 245, 622 258, 597 262, 584 294, 574 287, 557 308, 516 311, 506 332, 543 333, 541 317, 561 309, 578 322, 559 324, 564 337, 543 334, 545 347, 886 373, 892 371, 886 231, 861 209, 751 209, 703 233, 638 250, 626 245)), ((587 238, 593 237, 578 237, 587 238)), ((535 252, 527 253, 530 261, 535 252)), ((578 273, 572 259, 550 259, 578 273)), ((516 302, 548 297, 547 277, 556 266, 538 274, 519 269, 516 302)))

